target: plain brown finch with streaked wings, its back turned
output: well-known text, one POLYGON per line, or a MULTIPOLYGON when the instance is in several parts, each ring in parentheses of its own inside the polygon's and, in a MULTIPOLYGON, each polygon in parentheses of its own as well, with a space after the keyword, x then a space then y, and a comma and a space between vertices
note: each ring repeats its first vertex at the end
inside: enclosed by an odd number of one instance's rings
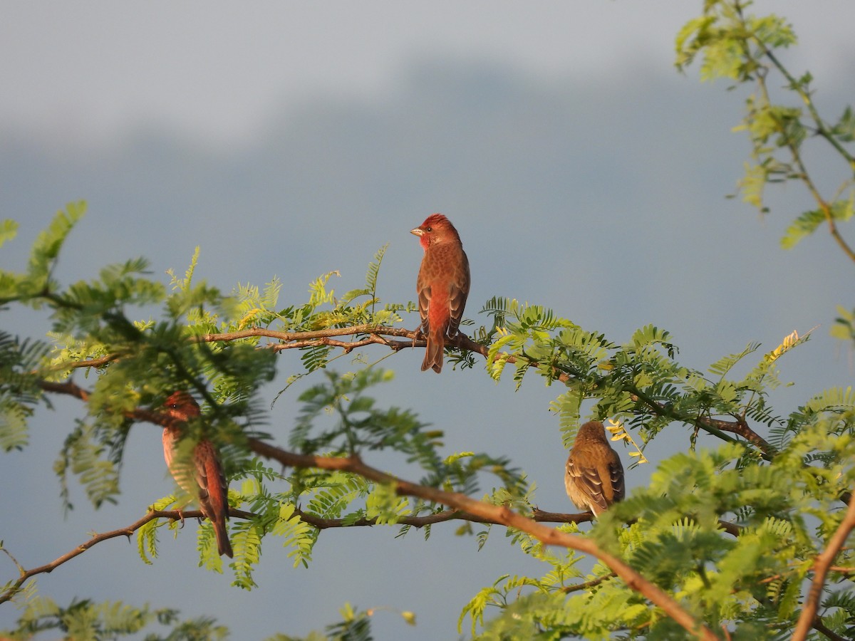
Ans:
POLYGON ((605 438, 605 428, 592 420, 579 428, 564 471, 567 496, 579 509, 596 516, 623 498, 623 466, 605 438))

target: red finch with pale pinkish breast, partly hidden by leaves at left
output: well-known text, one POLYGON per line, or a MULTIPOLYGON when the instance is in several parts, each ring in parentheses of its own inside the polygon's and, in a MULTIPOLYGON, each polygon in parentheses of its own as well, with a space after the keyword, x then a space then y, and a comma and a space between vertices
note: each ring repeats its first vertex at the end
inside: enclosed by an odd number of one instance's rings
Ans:
POLYGON ((186 391, 174 392, 163 406, 170 419, 163 429, 163 458, 169 472, 184 491, 198 497, 202 514, 214 526, 217 550, 221 555, 232 556, 226 530, 228 485, 214 444, 203 438, 193 447, 192 461, 175 459, 181 432, 187 420, 201 414, 199 406, 186 391))

